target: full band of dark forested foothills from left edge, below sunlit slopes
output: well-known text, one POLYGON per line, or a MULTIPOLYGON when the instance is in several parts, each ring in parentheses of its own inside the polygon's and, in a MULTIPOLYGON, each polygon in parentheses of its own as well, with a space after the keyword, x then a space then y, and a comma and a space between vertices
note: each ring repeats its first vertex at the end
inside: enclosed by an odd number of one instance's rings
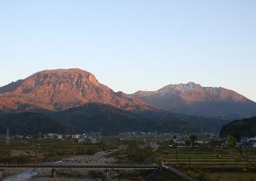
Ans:
POLYGON ((124 131, 162 133, 219 131, 225 120, 179 115, 163 110, 131 112, 108 104, 89 103, 59 112, 0 114, 0 134, 79 133, 99 131, 114 135, 124 131))

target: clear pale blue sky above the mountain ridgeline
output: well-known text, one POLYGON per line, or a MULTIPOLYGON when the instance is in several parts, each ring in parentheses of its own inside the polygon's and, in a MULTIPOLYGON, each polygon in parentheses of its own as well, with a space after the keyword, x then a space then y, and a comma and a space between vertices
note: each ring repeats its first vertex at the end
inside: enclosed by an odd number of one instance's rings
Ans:
POLYGON ((256 101, 255 0, 0 1, 0 86, 80 68, 134 93, 196 82, 256 101))

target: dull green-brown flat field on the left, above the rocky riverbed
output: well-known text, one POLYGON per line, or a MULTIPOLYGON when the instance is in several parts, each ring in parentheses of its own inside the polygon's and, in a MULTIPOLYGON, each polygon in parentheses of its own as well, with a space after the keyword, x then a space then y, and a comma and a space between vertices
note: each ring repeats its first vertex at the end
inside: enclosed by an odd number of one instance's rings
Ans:
POLYGON ((12 139, 10 145, 0 140, 0 163, 40 163, 57 161, 74 155, 91 155, 99 151, 115 148, 111 143, 91 142, 78 144, 74 139, 12 139))

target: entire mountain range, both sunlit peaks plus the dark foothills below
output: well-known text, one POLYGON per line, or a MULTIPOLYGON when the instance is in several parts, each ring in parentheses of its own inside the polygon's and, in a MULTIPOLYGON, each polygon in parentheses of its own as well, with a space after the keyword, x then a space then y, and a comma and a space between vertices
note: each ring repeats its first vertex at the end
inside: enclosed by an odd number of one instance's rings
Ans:
POLYGON ((189 82, 127 95, 102 85, 81 69, 45 70, 0 88, 0 122, 4 125, 0 134, 9 124, 20 126, 15 129, 18 134, 24 133, 21 130, 33 134, 31 130, 97 131, 99 127, 105 134, 195 133, 219 131, 229 119, 249 115, 256 115, 255 103, 225 88, 203 88, 189 82), (39 118, 52 126, 33 128, 37 126, 29 126, 33 118, 34 123, 39 118))

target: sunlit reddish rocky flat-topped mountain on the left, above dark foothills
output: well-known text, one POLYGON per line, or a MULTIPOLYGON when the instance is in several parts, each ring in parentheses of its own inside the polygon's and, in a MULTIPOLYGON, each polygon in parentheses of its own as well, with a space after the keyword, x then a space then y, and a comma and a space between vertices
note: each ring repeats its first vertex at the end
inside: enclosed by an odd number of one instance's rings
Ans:
POLYGON ((88 102, 126 110, 154 109, 140 99, 114 92, 81 69, 45 70, 0 88, 0 109, 5 112, 57 111, 88 102))

